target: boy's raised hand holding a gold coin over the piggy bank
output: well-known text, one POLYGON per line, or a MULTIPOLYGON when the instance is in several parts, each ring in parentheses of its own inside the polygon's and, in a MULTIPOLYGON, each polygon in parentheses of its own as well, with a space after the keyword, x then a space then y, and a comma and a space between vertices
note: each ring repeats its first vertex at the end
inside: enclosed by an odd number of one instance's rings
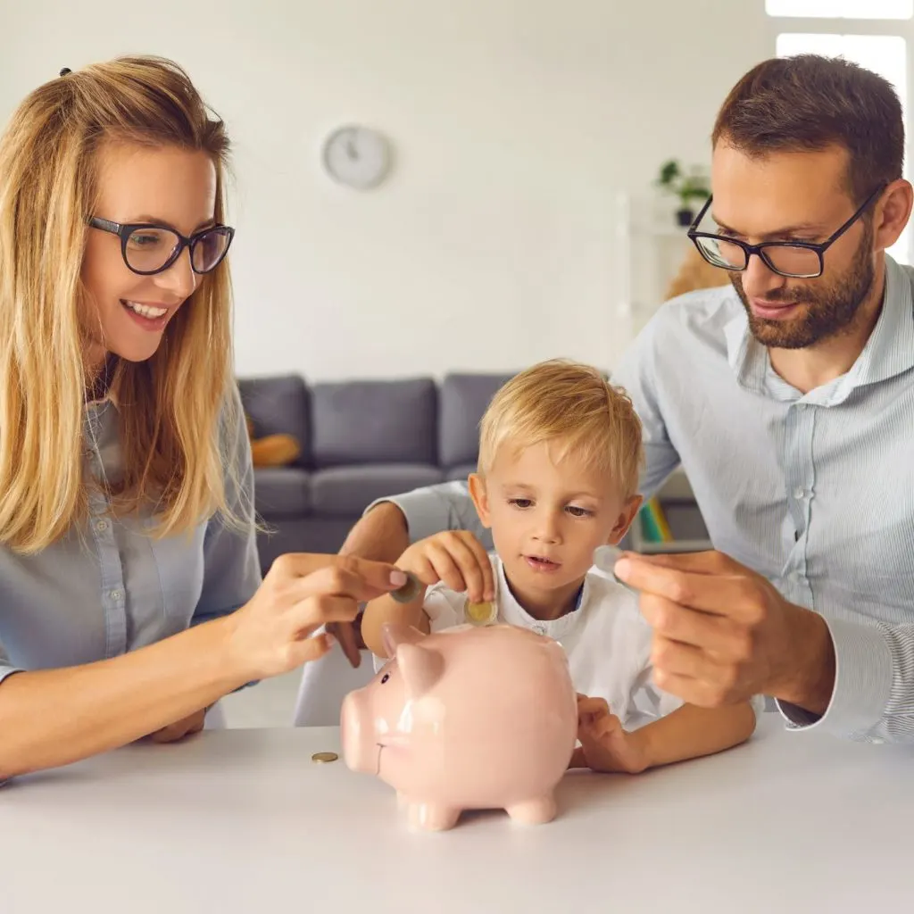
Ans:
POLYGON ((480 541, 467 530, 445 530, 413 543, 397 561, 426 587, 443 581, 473 602, 494 600, 492 562, 480 541))

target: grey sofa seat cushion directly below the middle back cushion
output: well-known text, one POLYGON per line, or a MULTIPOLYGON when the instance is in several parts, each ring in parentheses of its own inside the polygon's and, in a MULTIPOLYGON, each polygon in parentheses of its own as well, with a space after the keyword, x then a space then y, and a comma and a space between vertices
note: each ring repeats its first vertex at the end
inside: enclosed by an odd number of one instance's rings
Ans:
POLYGON ((358 517, 376 498, 443 481, 441 470, 413 463, 372 463, 317 470, 311 478, 315 515, 358 517))

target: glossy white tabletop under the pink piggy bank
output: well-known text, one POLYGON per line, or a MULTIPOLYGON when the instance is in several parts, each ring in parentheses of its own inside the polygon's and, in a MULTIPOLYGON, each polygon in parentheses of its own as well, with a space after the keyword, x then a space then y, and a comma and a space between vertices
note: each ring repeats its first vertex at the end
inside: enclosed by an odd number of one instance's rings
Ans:
POLYGON ((210 730, 0 790, 3 914, 907 910, 914 749, 784 732, 638 777, 571 773, 559 817, 412 833, 333 728, 210 730), (884 907, 882 907, 884 906, 884 907))

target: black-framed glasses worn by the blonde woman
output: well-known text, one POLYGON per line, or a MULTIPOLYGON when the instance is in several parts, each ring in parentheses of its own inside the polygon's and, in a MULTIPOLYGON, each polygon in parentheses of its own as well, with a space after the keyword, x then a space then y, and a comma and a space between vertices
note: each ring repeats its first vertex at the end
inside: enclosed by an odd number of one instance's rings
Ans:
POLYGON ((203 228, 187 238, 174 228, 145 222, 122 224, 94 216, 88 221, 92 228, 111 232, 121 239, 123 262, 141 276, 167 270, 185 248, 190 249, 190 265, 195 273, 213 271, 228 253, 235 236, 234 228, 221 225, 203 228))

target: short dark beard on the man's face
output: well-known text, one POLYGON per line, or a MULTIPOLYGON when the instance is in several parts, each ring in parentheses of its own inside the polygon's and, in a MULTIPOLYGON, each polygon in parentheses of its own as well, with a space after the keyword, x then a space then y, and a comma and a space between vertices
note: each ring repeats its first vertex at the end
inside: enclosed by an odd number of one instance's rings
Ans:
POLYGON ((834 282, 819 279, 785 289, 772 289, 765 302, 805 305, 799 317, 777 321, 752 314, 743 292, 741 273, 731 272, 730 282, 749 317, 749 331, 763 345, 777 349, 802 349, 825 339, 847 333, 854 325, 860 305, 873 288, 873 228, 865 223, 864 237, 844 276, 834 282))

